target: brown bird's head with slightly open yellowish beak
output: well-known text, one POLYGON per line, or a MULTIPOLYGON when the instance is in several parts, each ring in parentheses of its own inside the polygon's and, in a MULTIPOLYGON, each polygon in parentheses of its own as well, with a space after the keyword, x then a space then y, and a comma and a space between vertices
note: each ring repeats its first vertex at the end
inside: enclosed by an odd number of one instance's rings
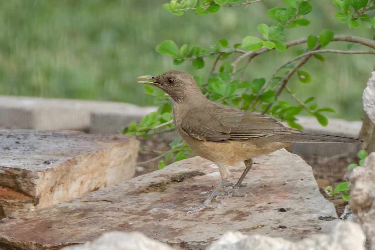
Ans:
POLYGON ((138 82, 155 85, 176 102, 190 99, 189 97, 192 96, 195 98, 203 96, 194 78, 183 71, 169 70, 161 75, 139 76, 138 79, 147 79, 147 81, 138 82))

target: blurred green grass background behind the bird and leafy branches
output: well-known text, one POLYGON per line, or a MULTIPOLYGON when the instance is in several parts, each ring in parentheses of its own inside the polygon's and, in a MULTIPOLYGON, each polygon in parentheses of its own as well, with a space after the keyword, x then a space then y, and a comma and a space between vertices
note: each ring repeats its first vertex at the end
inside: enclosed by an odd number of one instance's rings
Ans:
MULTIPOLYGON (((230 45, 248 35, 260 36, 259 23, 272 24, 267 10, 285 7, 281 0, 251 6, 222 8, 210 15, 193 11, 175 16, 162 8, 167 1, 146 0, 1 0, 0 1, 0 94, 92 99, 152 105, 144 95, 139 75, 184 70, 207 78, 213 61, 194 70, 190 62, 180 66, 173 58, 155 51, 166 39, 178 46, 193 43, 207 48, 219 39, 230 45)), ((323 28, 335 34, 353 34, 372 39, 374 28, 349 29, 335 20, 338 10, 331 1, 312 1, 306 15, 312 24, 287 31, 288 40, 318 35, 323 28)), ((356 46, 356 49, 362 45, 356 46)), ((245 78, 266 77, 306 45, 287 53, 271 51, 258 56, 245 78)), ((346 49, 336 42, 328 48, 346 49), (336 45, 338 45, 336 47, 336 45)), ((302 68, 312 82, 302 84, 294 76, 290 87, 305 100, 316 96, 320 106, 337 113, 330 117, 360 120, 362 91, 374 70, 374 55, 324 54, 326 62, 314 58, 302 68)), ((286 97, 288 98, 288 97, 286 97)))

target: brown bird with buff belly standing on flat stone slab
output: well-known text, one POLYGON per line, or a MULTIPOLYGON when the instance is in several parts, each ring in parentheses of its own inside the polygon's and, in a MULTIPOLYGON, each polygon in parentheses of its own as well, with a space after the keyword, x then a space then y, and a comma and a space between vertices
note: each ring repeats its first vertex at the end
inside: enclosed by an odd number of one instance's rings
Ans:
POLYGON ((252 167, 253 158, 272 153, 296 142, 345 142, 359 143, 360 139, 304 133, 300 129, 284 127, 279 121, 265 115, 231 108, 208 100, 199 90, 195 80, 186 72, 171 70, 158 76, 139 76, 138 81, 155 85, 173 100, 173 120, 178 133, 186 144, 199 156, 211 160, 219 167, 222 180, 203 204, 183 208, 196 213, 211 204, 212 198, 229 178, 228 166, 245 162, 245 171, 230 191, 217 196, 247 196, 239 188, 252 167))

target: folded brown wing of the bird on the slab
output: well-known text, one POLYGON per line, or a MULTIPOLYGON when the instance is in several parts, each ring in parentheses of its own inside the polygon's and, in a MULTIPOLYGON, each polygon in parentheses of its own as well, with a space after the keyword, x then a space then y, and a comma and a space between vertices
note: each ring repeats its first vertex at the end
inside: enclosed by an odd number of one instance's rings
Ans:
POLYGON ((181 129, 202 141, 245 140, 302 132, 284 127, 277 120, 264 115, 216 104, 203 112, 187 114, 184 120, 189 122, 181 124, 181 129))

